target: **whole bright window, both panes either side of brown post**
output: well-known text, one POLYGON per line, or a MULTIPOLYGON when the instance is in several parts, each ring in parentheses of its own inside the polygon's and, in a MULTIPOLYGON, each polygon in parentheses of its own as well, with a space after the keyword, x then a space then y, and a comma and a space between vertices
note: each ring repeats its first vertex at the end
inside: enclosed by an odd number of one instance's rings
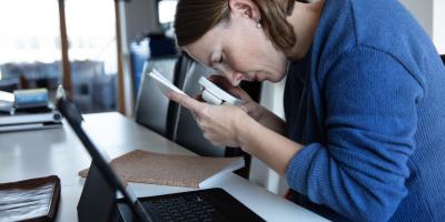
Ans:
POLYGON ((69 78, 82 112, 116 110, 115 1, 0 1, 0 81, 47 88, 53 100, 57 85, 69 78), (65 10, 59 10, 59 3, 65 10), (65 14, 66 30, 59 13, 65 14), (67 33, 67 41, 61 33, 67 33), (68 54, 71 74, 62 73, 62 54, 68 54))

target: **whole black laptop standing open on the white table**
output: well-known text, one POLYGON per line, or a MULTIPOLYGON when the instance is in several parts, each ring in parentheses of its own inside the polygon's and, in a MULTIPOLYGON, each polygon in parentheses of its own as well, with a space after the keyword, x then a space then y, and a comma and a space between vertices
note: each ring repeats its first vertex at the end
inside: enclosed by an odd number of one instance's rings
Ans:
POLYGON ((109 165, 107 154, 92 143, 82 115, 61 87, 57 94, 57 108, 92 159, 78 204, 79 221, 264 221, 219 188, 136 198, 109 165), (117 193, 123 198, 116 199, 117 193))

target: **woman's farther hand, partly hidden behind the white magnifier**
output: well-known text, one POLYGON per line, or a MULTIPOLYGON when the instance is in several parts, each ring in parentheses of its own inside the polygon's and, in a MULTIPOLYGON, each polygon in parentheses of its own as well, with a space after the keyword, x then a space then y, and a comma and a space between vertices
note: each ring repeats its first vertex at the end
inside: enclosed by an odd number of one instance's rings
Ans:
POLYGON ((255 102, 241 88, 231 85, 230 82, 222 75, 210 75, 208 79, 221 87, 225 91, 228 91, 235 97, 240 98, 244 101, 244 104, 239 108, 241 108, 241 110, 248 115, 254 118, 256 121, 261 118, 264 108, 255 102))

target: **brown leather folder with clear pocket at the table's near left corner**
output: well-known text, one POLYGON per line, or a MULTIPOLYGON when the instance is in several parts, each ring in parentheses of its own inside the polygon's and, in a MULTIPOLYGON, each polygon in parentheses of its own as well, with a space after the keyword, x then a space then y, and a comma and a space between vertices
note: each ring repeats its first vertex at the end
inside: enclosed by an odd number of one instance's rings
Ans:
POLYGON ((60 200, 57 175, 0 184, 0 221, 52 221, 60 200))

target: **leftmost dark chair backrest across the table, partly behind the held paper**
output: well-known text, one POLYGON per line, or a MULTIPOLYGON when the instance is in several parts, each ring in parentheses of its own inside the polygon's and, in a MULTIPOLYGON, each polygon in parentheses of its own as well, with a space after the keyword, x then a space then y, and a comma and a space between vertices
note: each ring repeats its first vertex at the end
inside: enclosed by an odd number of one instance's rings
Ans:
MULTIPOLYGON (((178 58, 157 58, 147 60, 148 70, 156 68, 166 79, 175 81, 178 58)), ((171 111, 174 104, 159 91, 156 82, 142 74, 135 107, 135 121, 170 139, 171 111)))

